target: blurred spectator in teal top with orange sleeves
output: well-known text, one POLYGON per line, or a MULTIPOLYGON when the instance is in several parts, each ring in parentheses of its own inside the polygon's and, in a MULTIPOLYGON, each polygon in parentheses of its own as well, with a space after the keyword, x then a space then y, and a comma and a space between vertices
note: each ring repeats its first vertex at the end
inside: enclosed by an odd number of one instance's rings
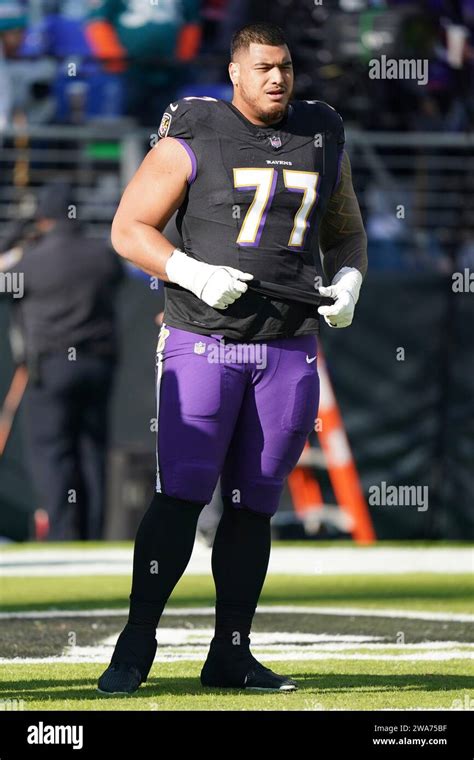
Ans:
POLYGON ((86 25, 89 44, 108 70, 125 70, 126 112, 156 124, 176 90, 189 81, 182 64, 200 45, 200 0, 95 0, 86 25), (180 65, 181 64, 181 65, 180 65))

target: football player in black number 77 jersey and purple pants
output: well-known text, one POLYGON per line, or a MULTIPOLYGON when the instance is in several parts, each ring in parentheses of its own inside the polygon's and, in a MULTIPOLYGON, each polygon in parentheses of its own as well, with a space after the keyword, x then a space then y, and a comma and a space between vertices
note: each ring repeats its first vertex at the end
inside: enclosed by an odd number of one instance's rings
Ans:
POLYGON ((219 476, 215 634, 201 683, 296 688, 255 659, 249 636, 270 519, 317 415, 319 315, 334 328, 351 324, 367 241, 341 117, 326 103, 292 100, 282 31, 238 31, 229 74, 232 102, 170 103, 112 226, 118 253, 164 280, 166 305, 156 494, 136 537, 128 623, 99 680, 106 694, 146 681, 158 622, 219 476), (176 211, 181 249, 165 230, 176 211))

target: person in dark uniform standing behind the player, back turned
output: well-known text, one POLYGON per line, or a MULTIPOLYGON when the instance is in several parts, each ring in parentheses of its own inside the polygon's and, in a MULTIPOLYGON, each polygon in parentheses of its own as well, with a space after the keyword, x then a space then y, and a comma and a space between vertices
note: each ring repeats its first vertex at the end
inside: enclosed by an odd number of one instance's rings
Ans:
MULTIPOLYGON (((108 244, 69 218, 71 188, 46 186, 40 237, 3 246, 23 278, 19 301, 29 386, 28 445, 49 539, 102 538, 108 402, 117 360, 115 299, 122 277, 108 244), (15 263, 16 262, 16 263, 15 263), (75 517, 75 521, 73 521, 75 517)), ((18 308, 18 301, 16 308, 18 308)))

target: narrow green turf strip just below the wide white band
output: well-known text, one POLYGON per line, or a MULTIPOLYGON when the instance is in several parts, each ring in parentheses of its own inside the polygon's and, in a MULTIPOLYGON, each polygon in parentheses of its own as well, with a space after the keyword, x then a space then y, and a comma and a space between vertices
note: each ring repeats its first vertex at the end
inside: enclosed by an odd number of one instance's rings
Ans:
MULTIPOLYGON (((4 610, 100 609, 125 607, 130 593, 127 576, 39 577, 0 579, 4 610)), ((267 577, 261 604, 346 605, 363 607, 471 612, 474 575, 402 573, 398 575, 313 575, 267 577)), ((170 605, 214 603, 214 585, 207 576, 184 576, 170 605)))

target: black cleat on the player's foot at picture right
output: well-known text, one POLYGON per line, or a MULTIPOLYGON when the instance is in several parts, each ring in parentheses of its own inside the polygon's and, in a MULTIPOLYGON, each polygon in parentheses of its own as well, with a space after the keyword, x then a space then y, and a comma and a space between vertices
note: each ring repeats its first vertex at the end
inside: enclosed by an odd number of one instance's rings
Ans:
POLYGON ((254 689, 258 691, 296 691, 292 678, 280 676, 266 668, 247 652, 245 657, 207 656, 201 671, 201 684, 224 689, 254 689))

